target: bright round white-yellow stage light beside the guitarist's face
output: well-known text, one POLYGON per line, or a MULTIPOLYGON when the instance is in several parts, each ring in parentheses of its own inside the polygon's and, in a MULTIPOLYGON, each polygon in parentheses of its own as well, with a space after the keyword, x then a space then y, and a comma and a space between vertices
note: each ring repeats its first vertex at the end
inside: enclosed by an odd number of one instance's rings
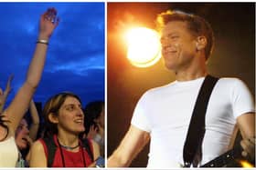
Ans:
POLYGON ((136 27, 126 34, 127 58, 132 65, 147 67, 155 65, 161 58, 159 34, 146 27, 136 27))

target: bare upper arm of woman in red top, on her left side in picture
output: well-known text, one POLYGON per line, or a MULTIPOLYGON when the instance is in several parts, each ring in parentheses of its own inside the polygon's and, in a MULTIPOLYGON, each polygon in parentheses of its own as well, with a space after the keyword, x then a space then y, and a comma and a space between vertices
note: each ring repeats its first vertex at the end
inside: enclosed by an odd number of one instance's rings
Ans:
POLYGON ((37 140, 30 148, 29 167, 47 167, 44 146, 37 140))

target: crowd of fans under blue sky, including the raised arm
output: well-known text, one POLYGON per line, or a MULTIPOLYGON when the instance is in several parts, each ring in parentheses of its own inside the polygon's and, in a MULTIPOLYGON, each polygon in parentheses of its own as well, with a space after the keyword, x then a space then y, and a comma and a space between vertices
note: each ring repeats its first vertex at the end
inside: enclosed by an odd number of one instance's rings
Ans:
POLYGON ((80 97, 71 92, 53 95, 42 110, 33 101, 48 41, 58 25, 57 10, 48 8, 40 17, 27 78, 10 105, 5 106, 5 101, 14 75, 5 91, 0 88, 0 167, 104 167, 103 101, 83 107, 80 97))

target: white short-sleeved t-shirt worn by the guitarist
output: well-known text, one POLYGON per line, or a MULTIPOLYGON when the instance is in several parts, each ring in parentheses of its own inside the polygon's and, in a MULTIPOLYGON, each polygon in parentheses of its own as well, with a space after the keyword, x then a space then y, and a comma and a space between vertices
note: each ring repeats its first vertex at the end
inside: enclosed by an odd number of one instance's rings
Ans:
MULTIPOLYGON (((151 135, 147 167, 183 165, 187 129, 204 79, 156 87, 139 100, 132 125, 151 135)), ((220 78, 208 101, 201 165, 227 151, 236 118, 248 112, 254 112, 248 87, 237 78, 220 78)))

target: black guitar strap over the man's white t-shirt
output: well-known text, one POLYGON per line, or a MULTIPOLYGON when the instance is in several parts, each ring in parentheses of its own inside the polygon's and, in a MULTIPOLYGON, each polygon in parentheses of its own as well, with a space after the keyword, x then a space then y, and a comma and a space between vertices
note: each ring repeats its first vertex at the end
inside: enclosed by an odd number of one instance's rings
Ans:
MULTIPOLYGON (((201 146, 205 135, 205 117, 208 107, 209 96, 211 95, 214 85, 219 78, 207 75, 203 85, 201 85, 197 102, 193 110, 190 125, 187 131, 187 138, 183 148, 184 166, 195 167, 198 164, 196 155, 201 156, 201 146)), ((200 157, 201 158, 201 157, 200 157)))

